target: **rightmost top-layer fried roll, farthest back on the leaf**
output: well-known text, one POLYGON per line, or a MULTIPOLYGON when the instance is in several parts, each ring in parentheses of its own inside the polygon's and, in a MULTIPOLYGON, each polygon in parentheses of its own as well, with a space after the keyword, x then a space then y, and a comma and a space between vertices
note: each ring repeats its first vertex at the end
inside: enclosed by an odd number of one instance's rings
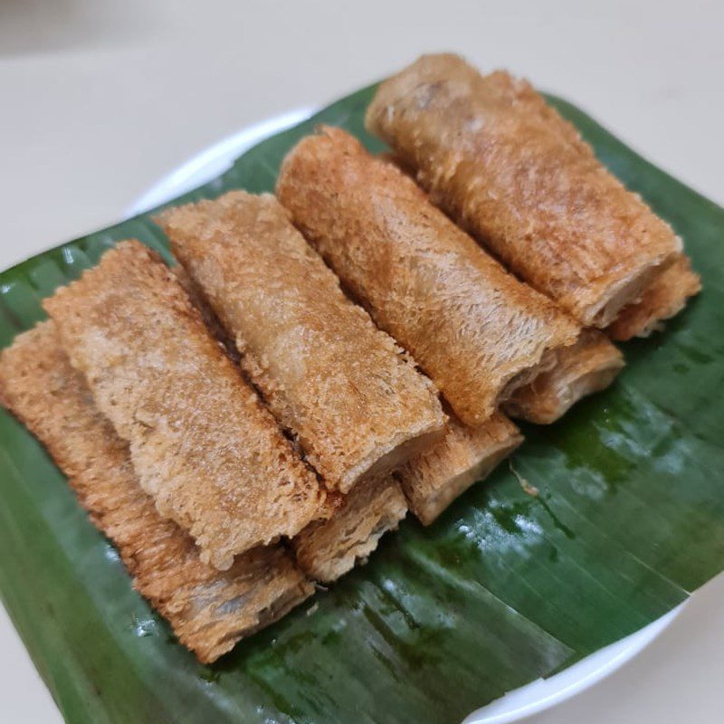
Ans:
POLYGON ((526 81, 425 55, 383 82, 367 128, 523 281, 584 326, 636 300, 681 240, 526 81))

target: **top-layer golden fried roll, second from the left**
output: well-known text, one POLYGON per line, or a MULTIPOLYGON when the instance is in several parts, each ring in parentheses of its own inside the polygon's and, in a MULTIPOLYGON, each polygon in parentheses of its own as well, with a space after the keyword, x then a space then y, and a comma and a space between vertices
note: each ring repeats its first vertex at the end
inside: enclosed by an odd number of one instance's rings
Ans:
POLYGON ((272 414, 330 489, 347 492, 440 434, 429 380, 345 297, 272 195, 232 192, 159 222, 272 414))

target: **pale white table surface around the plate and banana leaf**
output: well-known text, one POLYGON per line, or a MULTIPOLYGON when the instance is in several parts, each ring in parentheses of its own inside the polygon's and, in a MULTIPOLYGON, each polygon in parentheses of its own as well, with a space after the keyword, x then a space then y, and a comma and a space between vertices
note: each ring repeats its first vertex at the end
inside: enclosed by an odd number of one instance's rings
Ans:
MULTIPOLYGON (((216 139, 435 50, 574 100, 723 204, 722 27, 720 0, 0 0, 0 268, 115 221, 216 139)), ((722 643, 719 576, 623 670, 530 720, 721 724, 722 643)), ((0 672, 0 721, 61 720, 1 608, 0 672)))

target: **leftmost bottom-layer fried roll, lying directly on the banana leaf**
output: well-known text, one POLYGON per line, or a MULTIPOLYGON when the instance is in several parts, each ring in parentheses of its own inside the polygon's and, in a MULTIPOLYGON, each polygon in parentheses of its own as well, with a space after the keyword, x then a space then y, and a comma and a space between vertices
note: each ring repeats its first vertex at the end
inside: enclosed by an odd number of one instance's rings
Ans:
POLYGON ((68 362, 52 322, 0 357, 2 403, 45 445, 93 524, 118 548, 133 585, 204 663, 281 618, 313 586, 280 546, 254 548, 221 573, 161 518, 138 485, 122 441, 68 362))

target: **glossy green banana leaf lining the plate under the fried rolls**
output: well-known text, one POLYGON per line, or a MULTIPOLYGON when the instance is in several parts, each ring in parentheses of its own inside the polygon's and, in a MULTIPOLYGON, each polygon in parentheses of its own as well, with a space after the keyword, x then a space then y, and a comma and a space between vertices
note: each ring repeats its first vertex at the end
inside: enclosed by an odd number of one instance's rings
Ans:
MULTIPOLYGON (((270 138, 212 183, 269 191, 317 123, 363 128, 374 88, 270 138)), ((681 233, 704 291, 559 424, 433 527, 408 519, 366 567, 213 666, 130 586, 62 474, 0 413, 0 590, 70 722, 455 722, 649 624, 724 567, 724 210, 550 99, 681 233), (517 476, 536 486, 531 497, 517 476)), ((0 346, 119 239, 166 251, 144 214, 0 274, 0 346)))

